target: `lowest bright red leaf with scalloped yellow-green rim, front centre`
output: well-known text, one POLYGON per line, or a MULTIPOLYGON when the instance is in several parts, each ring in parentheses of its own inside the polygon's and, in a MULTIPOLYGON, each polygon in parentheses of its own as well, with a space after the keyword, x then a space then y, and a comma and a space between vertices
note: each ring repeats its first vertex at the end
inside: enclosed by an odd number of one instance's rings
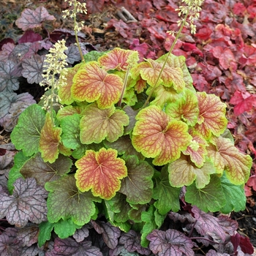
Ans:
POLYGON ((110 199, 121 187, 121 178, 127 176, 127 167, 123 159, 117 157, 114 149, 101 148, 95 152, 86 151, 75 166, 76 184, 80 191, 89 191, 94 196, 110 199))

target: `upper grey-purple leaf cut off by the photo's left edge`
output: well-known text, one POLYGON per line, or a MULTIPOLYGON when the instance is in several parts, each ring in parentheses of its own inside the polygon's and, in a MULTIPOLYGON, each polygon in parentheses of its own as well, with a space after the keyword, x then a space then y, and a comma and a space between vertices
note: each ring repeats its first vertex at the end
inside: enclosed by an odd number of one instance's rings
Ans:
POLYGON ((16 64, 13 61, 0 61, 0 91, 16 91, 19 89, 18 78, 12 75, 16 64))

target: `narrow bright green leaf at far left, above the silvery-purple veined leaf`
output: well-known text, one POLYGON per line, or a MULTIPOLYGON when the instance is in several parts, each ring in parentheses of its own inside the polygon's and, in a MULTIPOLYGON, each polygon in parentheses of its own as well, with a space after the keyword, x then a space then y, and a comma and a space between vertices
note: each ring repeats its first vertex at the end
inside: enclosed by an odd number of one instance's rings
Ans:
POLYGON ((13 184, 15 183, 15 181, 20 177, 23 178, 20 173, 20 168, 25 164, 28 159, 29 157, 24 156, 23 151, 18 151, 18 153, 14 156, 14 165, 10 170, 7 181, 7 187, 11 195, 14 189, 13 184))

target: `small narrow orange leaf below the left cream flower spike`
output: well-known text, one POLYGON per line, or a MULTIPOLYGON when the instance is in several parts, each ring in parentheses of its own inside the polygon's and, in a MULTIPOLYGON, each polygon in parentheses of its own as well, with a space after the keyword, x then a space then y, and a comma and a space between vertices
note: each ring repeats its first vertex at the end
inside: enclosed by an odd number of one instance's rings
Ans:
POLYGON ((39 139, 39 151, 45 162, 54 162, 59 155, 61 128, 54 127, 50 113, 46 113, 45 125, 42 127, 39 139))

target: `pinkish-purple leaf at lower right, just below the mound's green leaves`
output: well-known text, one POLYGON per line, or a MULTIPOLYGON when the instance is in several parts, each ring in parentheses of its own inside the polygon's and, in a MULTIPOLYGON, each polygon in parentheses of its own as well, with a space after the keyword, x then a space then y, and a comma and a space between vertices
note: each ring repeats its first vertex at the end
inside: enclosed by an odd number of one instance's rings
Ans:
POLYGON ((225 242, 226 233, 233 235, 237 230, 238 224, 236 221, 229 219, 227 216, 220 216, 219 218, 206 214, 201 211, 197 206, 192 207, 195 219, 195 229, 202 236, 211 236, 214 240, 222 240, 225 242))

